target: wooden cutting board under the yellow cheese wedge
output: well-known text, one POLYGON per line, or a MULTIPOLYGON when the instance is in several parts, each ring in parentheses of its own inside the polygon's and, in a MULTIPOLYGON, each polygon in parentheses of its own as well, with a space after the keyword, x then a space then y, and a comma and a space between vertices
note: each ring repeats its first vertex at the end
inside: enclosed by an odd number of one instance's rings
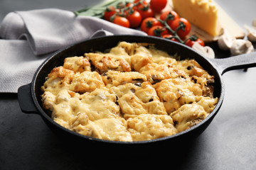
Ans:
MULTIPOLYGON (((244 38, 245 31, 242 30, 242 28, 238 26, 238 24, 235 23, 235 21, 233 21, 233 19, 230 16, 228 16, 228 13, 225 13, 223 8, 221 8, 218 4, 216 4, 216 6, 218 7, 218 16, 221 16, 219 17, 220 26, 228 30, 228 32, 231 35, 233 35, 235 38, 244 38)), ((168 4, 166 5, 166 8, 164 8, 163 11, 169 11, 171 9, 172 9, 172 1, 168 0, 168 4)), ((193 35, 193 34, 197 35, 206 43, 215 42, 216 40, 218 40, 218 36, 213 37, 212 35, 209 35, 208 33, 206 33, 206 31, 201 30, 200 28, 193 26, 193 24, 191 24, 191 33, 189 33, 189 35, 193 35)))

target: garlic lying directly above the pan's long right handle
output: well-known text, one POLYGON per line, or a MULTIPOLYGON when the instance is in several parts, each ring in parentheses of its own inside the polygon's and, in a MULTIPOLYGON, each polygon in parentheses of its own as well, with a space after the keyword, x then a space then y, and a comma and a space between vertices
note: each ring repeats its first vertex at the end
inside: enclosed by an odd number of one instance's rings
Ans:
POLYGON ((249 40, 240 39, 235 40, 230 49, 231 55, 242 55, 253 51, 254 48, 252 46, 252 42, 250 42, 249 40))

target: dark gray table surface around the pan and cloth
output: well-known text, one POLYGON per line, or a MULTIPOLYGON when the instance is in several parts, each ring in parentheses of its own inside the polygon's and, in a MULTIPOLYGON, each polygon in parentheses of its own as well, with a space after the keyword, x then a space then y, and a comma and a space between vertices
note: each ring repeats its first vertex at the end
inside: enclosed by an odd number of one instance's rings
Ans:
MULTIPOLYGON (((98 0, 100 1, 100 0, 98 0)), ((216 0, 240 25, 256 18, 255 0, 216 0)), ((75 11, 97 1, 0 0, 0 23, 11 11, 75 11)), ((220 54, 221 55, 221 54, 220 54)), ((223 75, 225 99, 209 127, 183 152, 122 159, 65 149, 39 115, 22 113, 16 94, 0 94, 0 169, 256 169, 256 68, 223 75)))

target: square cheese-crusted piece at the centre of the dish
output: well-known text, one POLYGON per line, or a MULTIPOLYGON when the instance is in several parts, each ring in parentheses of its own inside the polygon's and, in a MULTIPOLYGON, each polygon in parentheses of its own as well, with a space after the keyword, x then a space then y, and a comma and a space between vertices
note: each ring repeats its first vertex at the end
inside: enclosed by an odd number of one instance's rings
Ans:
POLYGON ((141 114, 167 115, 164 104, 159 101, 155 89, 148 81, 112 87, 110 92, 117 95, 125 119, 141 114))

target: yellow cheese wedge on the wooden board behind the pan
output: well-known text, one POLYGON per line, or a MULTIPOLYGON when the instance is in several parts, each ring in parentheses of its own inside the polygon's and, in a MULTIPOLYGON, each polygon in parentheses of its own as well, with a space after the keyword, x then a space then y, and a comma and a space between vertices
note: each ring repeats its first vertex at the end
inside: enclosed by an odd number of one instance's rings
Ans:
POLYGON ((174 11, 213 37, 220 35, 218 7, 212 0, 172 0, 174 11))

